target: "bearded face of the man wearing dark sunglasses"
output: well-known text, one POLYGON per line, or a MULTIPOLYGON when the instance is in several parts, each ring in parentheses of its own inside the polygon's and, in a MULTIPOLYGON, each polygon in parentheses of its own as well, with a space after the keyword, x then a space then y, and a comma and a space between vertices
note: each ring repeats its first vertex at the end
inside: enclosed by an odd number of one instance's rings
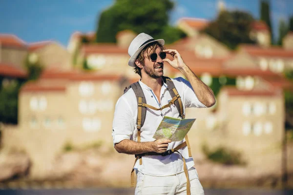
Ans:
POLYGON ((160 47, 157 47, 155 50, 156 54, 158 55, 155 61, 150 59, 150 54, 153 53, 152 49, 149 48, 145 53, 145 65, 142 68, 149 77, 151 78, 160 78, 164 75, 164 61, 160 57, 160 53, 162 52, 160 47))

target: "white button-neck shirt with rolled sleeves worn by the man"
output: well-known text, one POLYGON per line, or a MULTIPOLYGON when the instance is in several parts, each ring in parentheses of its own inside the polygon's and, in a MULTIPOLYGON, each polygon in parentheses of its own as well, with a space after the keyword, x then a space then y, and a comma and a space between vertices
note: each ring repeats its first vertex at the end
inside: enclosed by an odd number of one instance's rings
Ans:
MULTIPOLYGON (((198 100, 192 90, 190 83, 187 80, 184 78, 174 78, 172 81, 174 82, 174 85, 181 97, 184 110, 188 107, 206 107, 198 100)), ((145 94, 146 103, 151 106, 159 108, 167 104, 168 101, 172 99, 167 90, 166 83, 164 83, 161 88, 161 103, 159 103, 151 88, 146 86, 146 84, 141 81, 139 81, 139 84, 141 85, 145 94)), ((176 106, 173 104, 170 107, 163 109, 162 111, 155 111, 146 108, 146 120, 144 126, 141 128, 141 142, 155 140, 152 137, 164 116, 178 118, 179 113, 176 106)), ((112 131, 114 144, 119 143, 124 139, 137 141, 136 120, 137 100, 134 91, 131 88, 123 96, 121 96, 116 103, 112 131)), ((169 143, 167 149, 173 149, 184 141, 185 140, 171 142, 169 143)), ((192 139, 189 138, 189 141, 192 141, 192 139)), ((188 156, 188 148, 184 147, 180 149, 179 152, 186 159, 188 169, 191 168, 194 165, 194 162, 192 157, 188 156)), ((183 160, 178 153, 173 153, 167 156, 143 156, 142 160, 143 164, 140 165, 138 160, 134 168, 146 175, 170 176, 184 171, 183 160)))

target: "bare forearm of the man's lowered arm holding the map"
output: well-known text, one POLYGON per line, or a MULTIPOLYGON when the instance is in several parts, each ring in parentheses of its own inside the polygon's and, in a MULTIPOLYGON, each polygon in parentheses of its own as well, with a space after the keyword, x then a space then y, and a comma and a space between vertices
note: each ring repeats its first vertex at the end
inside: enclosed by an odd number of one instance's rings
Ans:
POLYGON ((114 147, 117 152, 128 155, 138 155, 153 151, 152 142, 136 142, 130 139, 124 139, 116 143, 114 147))

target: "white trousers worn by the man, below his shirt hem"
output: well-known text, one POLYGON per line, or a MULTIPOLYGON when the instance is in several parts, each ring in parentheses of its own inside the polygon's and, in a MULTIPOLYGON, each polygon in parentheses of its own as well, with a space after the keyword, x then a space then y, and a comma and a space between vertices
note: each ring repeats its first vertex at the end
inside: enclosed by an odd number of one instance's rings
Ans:
MULTIPOLYGON (((191 195, 204 195, 204 189, 199 182, 194 167, 188 169, 191 195)), ((172 176, 148 176, 137 173, 135 195, 186 195, 185 173, 172 176)))

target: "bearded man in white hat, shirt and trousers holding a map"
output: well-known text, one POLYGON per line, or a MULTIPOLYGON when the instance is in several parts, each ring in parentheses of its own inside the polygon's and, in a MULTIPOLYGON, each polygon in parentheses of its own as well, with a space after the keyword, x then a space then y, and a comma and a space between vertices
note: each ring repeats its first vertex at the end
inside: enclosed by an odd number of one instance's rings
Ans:
MULTIPOLYGON (((172 99, 168 86, 162 78, 164 62, 167 62, 173 68, 180 70, 189 80, 188 82, 184 78, 171 79, 178 90, 184 109, 214 105, 212 90, 189 69, 178 51, 165 49, 164 44, 164 39, 154 40, 151 36, 141 33, 132 40, 128 48, 130 56, 128 65, 134 67, 135 72, 141 76, 139 84, 147 104, 161 108, 172 99), (171 55, 173 60, 167 59, 166 54, 171 55)), ((183 143, 183 141, 171 142, 168 139, 152 138, 164 116, 177 118, 179 113, 175 105, 162 110, 147 108, 145 122, 140 129, 137 126, 138 101, 134 90, 130 88, 116 103, 112 132, 115 149, 119 153, 130 155, 159 154, 142 156, 141 162, 136 161, 135 194, 179 195, 187 194, 189 190, 192 195, 203 195, 204 191, 198 180, 197 171, 193 168, 193 159, 188 156, 188 147, 180 148, 178 152, 166 156, 160 155, 183 143), (187 167, 188 175, 184 167, 187 167), (187 188, 188 182, 190 189, 187 188)))

